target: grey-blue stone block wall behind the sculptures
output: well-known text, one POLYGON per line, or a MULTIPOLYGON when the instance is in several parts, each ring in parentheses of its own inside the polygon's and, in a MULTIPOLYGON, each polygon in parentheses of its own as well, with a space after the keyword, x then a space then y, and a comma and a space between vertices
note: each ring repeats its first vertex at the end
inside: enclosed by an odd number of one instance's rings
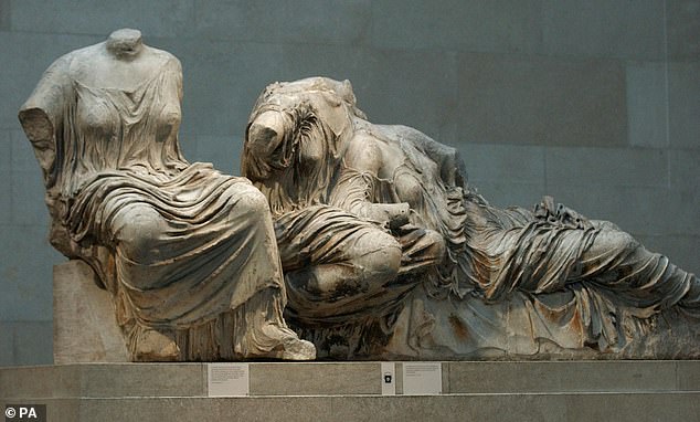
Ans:
POLYGON ((238 173, 274 81, 352 81, 463 154, 495 204, 549 193, 700 272, 700 0, 0 0, 0 365, 52 361, 49 214, 17 110, 60 55, 137 28, 184 72, 181 143, 238 173))

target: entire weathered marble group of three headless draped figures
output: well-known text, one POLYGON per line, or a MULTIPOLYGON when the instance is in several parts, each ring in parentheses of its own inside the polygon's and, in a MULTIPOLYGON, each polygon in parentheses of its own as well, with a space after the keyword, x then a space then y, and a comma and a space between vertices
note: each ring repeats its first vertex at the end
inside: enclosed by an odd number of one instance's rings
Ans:
POLYGON ((700 357, 694 275, 552 198, 491 207, 348 81, 265 88, 245 178, 184 159, 181 97, 179 61, 125 29, 19 115, 50 241, 96 272, 132 360, 700 357))

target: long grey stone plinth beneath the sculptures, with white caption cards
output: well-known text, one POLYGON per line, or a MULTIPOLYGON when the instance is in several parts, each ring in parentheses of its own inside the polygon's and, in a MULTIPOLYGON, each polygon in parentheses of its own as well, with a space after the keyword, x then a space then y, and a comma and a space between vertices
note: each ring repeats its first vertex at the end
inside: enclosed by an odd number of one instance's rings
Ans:
MULTIPOLYGON (((397 363, 396 373, 401 373, 397 363)), ((381 395, 379 362, 250 363, 250 397, 209 398, 205 363, 0 368, 0 404, 50 421, 693 421, 700 361, 444 362, 439 395, 381 395)))

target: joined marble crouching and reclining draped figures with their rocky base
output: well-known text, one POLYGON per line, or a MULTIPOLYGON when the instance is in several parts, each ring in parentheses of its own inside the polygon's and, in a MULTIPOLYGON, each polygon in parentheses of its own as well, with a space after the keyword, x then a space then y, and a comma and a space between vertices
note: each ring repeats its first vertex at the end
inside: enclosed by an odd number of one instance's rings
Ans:
POLYGON ((370 123, 347 81, 261 94, 242 171, 271 204, 288 320, 320 356, 700 356, 694 275, 552 198, 491 207, 463 167, 370 123))

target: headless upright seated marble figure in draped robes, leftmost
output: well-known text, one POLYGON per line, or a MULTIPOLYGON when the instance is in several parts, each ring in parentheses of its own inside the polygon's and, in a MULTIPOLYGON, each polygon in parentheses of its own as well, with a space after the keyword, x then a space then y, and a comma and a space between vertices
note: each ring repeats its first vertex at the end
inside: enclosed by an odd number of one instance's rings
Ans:
POLYGON ((19 117, 51 243, 97 273, 132 360, 312 359, 283 319, 265 198, 184 159, 181 98, 180 62, 136 30, 49 67, 19 117))

